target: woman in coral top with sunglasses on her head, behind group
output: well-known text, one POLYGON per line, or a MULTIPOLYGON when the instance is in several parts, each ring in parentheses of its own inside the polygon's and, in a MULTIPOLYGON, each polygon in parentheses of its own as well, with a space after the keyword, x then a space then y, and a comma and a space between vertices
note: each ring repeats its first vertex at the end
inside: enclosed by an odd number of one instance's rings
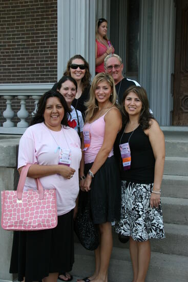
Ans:
POLYGON ((95 74, 105 72, 104 59, 114 53, 114 47, 107 37, 108 22, 105 18, 99 18, 96 24, 95 35, 95 74))

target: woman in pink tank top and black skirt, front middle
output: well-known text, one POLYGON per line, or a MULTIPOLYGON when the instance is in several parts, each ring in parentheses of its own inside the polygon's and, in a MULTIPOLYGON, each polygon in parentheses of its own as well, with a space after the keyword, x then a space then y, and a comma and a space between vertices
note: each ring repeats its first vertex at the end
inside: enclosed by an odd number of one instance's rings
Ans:
POLYGON ((120 217, 120 181, 113 145, 121 129, 121 114, 116 106, 116 90, 110 74, 97 74, 87 102, 82 148, 85 169, 80 168, 80 187, 89 193, 94 224, 98 225, 100 244, 95 250, 95 272, 79 281, 107 281, 112 251, 111 222, 120 217))

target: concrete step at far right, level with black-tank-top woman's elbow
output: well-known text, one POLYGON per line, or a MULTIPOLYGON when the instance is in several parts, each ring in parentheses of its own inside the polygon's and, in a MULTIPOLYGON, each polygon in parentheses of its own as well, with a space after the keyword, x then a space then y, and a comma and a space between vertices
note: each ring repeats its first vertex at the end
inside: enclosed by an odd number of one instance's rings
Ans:
POLYGON ((168 157, 188 157, 187 139, 165 139, 165 154, 168 157))

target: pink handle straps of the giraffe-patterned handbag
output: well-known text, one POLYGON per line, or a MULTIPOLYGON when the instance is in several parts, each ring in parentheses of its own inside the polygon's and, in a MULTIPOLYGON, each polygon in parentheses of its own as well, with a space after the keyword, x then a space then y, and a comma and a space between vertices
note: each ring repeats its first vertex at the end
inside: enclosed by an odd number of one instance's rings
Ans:
MULTIPOLYGON (((29 170, 30 166, 32 166, 32 164, 27 164, 26 166, 24 166, 21 173, 20 173, 19 182, 18 182, 18 185, 17 185, 17 198, 18 198, 18 200, 22 200, 24 185, 25 185, 25 182, 26 182, 26 177, 27 177, 28 170, 29 170)), ((44 198, 44 188, 41 185, 40 180, 38 178, 36 178, 35 181, 36 181, 36 185, 37 185, 37 189, 38 189, 39 199, 41 200, 41 199, 44 198)))

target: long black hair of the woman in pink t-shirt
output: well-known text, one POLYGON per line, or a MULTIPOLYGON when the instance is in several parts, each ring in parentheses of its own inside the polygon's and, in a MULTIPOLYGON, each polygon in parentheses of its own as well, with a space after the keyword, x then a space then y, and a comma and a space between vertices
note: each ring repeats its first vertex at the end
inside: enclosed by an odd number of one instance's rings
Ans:
POLYGON ((50 97, 57 97, 62 107, 64 107, 65 113, 64 113, 64 117, 61 120, 61 124, 64 126, 68 126, 68 120, 70 119, 71 110, 67 106, 65 98, 59 92, 53 91, 53 90, 46 92, 45 94, 43 94, 43 96, 40 97, 38 104, 37 104, 36 114, 31 119, 30 126, 45 122, 44 112, 46 109, 47 100, 50 97))

